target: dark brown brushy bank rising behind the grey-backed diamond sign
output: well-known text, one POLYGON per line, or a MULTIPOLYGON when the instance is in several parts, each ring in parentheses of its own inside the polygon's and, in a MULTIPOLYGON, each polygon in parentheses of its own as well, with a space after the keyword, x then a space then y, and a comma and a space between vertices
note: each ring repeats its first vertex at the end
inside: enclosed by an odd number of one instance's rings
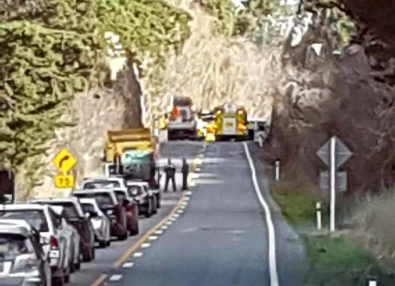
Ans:
POLYGON ((344 165, 351 190, 378 190, 395 178, 393 59, 386 44, 357 22, 342 47, 339 23, 347 17, 337 8, 311 5, 295 17, 267 144, 273 156, 296 165, 290 169, 299 175, 303 169, 318 182, 325 166, 315 153, 338 135, 354 152, 344 165))

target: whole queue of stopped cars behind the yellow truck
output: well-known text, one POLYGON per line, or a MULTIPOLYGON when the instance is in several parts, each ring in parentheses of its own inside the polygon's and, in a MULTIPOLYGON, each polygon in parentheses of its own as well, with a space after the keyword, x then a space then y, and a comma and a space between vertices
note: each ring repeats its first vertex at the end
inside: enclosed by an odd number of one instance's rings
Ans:
POLYGON ((61 286, 96 244, 139 233, 139 215, 160 208, 160 190, 123 177, 84 179, 69 198, 0 205, 0 285, 61 286))

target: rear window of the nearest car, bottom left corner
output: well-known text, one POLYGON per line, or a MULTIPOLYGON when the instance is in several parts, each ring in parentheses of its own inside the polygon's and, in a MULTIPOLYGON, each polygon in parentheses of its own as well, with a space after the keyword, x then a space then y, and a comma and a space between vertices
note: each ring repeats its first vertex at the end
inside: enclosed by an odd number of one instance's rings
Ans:
POLYGON ((32 245, 29 242, 29 239, 22 235, 0 233, 0 260, 32 253, 32 245))

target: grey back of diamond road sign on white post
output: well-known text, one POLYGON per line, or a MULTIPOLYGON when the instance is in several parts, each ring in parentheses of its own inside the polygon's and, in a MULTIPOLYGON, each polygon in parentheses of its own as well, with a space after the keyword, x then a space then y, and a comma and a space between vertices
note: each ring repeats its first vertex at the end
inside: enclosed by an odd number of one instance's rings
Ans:
POLYGON ((351 156, 352 152, 336 136, 331 137, 317 152, 317 156, 329 167, 328 172, 321 172, 320 187, 329 188, 330 199, 330 231, 335 231, 336 192, 347 190, 347 173, 339 172, 338 168, 351 156), (329 178, 328 178, 329 177, 329 178))

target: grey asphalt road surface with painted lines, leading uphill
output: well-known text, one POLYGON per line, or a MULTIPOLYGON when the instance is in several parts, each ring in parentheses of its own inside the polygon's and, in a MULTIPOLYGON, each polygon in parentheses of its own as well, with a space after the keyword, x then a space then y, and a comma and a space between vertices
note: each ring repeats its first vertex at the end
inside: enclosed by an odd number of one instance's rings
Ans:
POLYGON ((141 220, 142 236, 99 250, 71 285, 304 285, 303 247, 272 205, 265 175, 252 179, 245 144, 171 142, 161 156, 193 161, 190 190, 165 194, 169 203, 141 220))

